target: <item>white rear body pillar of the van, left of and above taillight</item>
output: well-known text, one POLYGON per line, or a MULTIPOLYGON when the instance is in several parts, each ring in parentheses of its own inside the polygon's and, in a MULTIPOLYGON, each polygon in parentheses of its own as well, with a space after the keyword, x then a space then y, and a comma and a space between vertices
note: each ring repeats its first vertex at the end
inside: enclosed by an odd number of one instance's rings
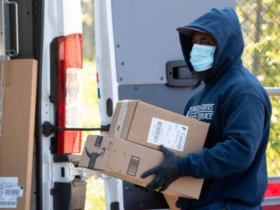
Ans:
MULTIPOLYGON (((55 125, 55 106, 50 103, 50 43, 58 36, 82 33, 80 0, 44 1, 43 59, 42 59, 42 122, 55 125)), ((50 137, 42 137, 43 210, 52 210, 50 190, 53 188, 50 137)))

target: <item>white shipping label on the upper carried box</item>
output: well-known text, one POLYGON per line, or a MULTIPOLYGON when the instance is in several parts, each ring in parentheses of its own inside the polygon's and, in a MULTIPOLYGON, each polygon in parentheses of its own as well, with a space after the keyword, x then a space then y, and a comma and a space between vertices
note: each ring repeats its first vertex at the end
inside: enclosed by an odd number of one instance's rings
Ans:
POLYGON ((177 151, 183 151, 188 126, 172 123, 167 120, 153 118, 148 134, 148 143, 163 145, 177 151))

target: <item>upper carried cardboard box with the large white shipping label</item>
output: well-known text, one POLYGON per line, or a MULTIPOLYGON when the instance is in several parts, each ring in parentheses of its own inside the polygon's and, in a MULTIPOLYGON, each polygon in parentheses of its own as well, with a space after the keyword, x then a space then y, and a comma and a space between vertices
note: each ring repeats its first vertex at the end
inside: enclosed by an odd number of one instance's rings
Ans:
POLYGON ((132 141, 159 150, 163 144, 177 156, 200 153, 209 123, 160 109, 140 101, 125 100, 116 105, 109 137, 132 141))

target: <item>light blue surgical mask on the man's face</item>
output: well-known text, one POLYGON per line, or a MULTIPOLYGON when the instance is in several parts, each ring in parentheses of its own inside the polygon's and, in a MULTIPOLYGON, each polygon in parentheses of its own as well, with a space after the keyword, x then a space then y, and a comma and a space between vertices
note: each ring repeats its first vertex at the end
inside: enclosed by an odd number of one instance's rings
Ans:
POLYGON ((195 71, 205 71, 213 66, 216 46, 193 45, 190 51, 190 63, 195 71))

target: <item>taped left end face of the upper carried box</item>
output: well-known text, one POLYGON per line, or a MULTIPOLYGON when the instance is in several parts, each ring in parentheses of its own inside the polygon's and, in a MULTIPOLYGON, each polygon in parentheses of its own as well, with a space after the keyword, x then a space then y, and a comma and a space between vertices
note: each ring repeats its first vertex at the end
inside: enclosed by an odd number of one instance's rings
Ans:
POLYGON ((127 138, 137 102, 135 100, 124 100, 117 103, 108 134, 109 137, 127 138))

